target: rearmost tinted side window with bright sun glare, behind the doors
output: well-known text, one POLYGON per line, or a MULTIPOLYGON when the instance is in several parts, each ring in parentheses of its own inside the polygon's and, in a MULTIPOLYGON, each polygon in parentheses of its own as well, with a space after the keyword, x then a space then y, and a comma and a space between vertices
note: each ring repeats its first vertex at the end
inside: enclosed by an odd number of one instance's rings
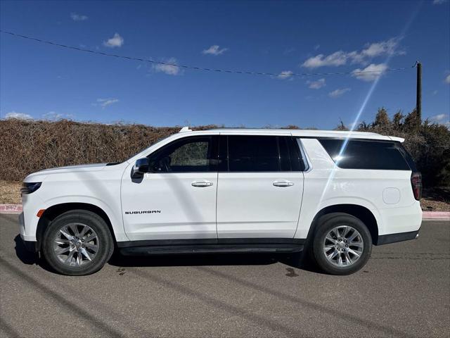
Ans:
POLYGON ((339 168, 411 170, 404 155, 394 142, 349 139, 319 139, 339 168))

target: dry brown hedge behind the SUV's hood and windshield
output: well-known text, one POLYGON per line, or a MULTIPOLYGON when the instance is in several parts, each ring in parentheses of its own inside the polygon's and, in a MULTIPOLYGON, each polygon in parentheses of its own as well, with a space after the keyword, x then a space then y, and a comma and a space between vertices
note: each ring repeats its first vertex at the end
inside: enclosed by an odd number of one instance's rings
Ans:
POLYGON ((179 130, 70 120, 0 120, 0 180, 23 180, 35 171, 63 165, 124 161, 179 130))

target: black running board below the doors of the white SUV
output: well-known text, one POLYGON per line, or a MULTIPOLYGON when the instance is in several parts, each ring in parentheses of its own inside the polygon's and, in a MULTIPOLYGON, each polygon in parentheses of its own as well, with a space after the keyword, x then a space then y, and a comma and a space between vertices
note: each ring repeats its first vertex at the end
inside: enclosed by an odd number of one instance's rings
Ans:
POLYGON ((202 244, 132 246, 120 249, 124 256, 190 253, 291 253, 303 250, 302 244, 202 244))

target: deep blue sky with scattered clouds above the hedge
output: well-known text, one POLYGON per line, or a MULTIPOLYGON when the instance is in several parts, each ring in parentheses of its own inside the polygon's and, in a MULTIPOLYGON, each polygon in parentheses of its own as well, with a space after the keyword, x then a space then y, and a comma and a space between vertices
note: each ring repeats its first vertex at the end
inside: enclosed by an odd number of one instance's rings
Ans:
POLYGON ((332 129, 416 104, 448 123, 450 4, 435 1, 1 1, 1 30, 106 53, 280 76, 125 61, 0 34, 0 114, 103 123, 332 129), (377 73, 378 74, 378 73, 377 73), (376 82, 374 84, 374 81, 376 82), (373 93, 368 96, 371 87, 373 93), (18 115, 26 114, 26 115, 18 115))

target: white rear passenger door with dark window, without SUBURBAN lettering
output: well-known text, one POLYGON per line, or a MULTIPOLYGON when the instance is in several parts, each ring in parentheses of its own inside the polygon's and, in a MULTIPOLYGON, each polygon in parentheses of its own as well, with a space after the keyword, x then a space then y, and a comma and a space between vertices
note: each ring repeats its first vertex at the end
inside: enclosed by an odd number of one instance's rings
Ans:
POLYGON ((219 239, 293 238, 303 192, 300 154, 293 139, 224 135, 219 151, 219 239))

